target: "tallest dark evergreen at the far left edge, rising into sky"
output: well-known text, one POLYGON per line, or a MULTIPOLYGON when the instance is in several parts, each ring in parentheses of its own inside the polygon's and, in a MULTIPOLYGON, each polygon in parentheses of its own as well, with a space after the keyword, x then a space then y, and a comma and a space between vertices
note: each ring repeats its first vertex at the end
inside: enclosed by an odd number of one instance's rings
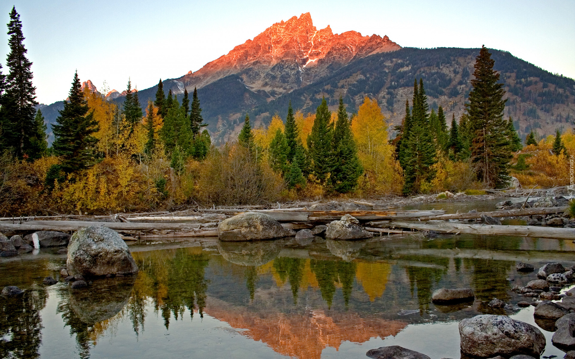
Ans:
POLYGON ((16 7, 10 11, 8 45, 10 53, 6 57, 9 74, 6 76, 6 92, 2 99, 2 137, 3 142, 19 158, 37 157, 32 153, 30 140, 43 138, 37 133, 39 128, 34 123, 36 115, 36 87, 32 86, 32 63, 26 58, 28 50, 24 47, 22 22, 16 7))

